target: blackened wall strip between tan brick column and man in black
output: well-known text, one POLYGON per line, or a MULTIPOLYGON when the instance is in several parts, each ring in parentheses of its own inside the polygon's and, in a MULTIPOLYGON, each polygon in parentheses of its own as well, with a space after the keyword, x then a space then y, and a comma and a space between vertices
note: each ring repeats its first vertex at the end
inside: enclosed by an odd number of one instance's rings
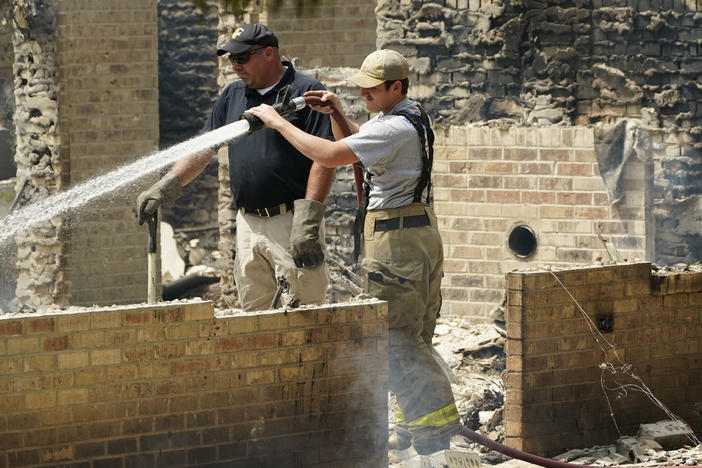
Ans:
MULTIPOLYGON (((197 135, 217 98, 218 2, 203 11, 189 0, 158 2, 160 146, 166 148, 197 135)), ((213 158, 188 184, 178 203, 164 207, 174 229, 199 227, 200 236, 217 225, 217 163, 213 158)), ((216 248, 216 245, 210 246, 216 248)))

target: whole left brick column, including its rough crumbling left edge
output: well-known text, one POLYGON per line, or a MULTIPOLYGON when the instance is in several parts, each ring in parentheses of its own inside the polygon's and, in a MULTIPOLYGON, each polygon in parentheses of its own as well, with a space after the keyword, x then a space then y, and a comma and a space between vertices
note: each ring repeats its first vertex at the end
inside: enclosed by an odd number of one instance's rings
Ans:
MULTIPOLYGON (((18 210, 156 148, 156 2, 139 3, 14 2, 18 210)), ((146 233, 131 193, 117 193, 124 181, 112 182, 108 197, 14 226, 17 307, 145 296, 146 233)))

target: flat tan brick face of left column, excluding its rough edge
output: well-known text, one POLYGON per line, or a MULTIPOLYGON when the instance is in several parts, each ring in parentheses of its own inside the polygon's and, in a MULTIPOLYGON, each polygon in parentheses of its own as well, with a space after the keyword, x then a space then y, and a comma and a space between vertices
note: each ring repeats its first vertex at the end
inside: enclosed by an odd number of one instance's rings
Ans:
MULTIPOLYGON (((57 2, 59 129, 72 185, 158 148, 156 5, 57 2)), ((113 193, 72 213, 72 304, 145 297, 146 234, 134 215, 136 193, 113 193)))

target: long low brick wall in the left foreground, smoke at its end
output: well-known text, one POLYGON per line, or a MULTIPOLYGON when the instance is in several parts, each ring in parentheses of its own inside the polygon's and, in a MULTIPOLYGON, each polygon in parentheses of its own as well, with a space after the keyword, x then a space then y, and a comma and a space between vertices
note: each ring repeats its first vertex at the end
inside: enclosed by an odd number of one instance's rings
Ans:
POLYGON ((2 317, 0 466, 386 467, 386 314, 187 302, 2 317))

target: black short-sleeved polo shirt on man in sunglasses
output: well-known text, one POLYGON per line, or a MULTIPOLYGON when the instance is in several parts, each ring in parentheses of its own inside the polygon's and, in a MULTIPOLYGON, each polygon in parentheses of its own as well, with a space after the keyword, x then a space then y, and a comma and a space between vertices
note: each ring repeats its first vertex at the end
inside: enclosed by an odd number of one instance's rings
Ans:
MULTIPOLYGON (((202 131, 207 132, 241 118, 246 109, 275 103, 278 90, 293 88, 291 98, 309 90, 325 89, 314 78, 297 73, 290 62, 288 69, 273 89, 261 95, 241 81, 227 86, 217 98, 202 131)), ((329 116, 309 107, 286 117, 307 133, 333 139, 329 116)), ((229 183, 237 207, 267 208, 305 198, 307 178, 312 161, 297 151, 276 130, 263 127, 229 143, 229 183)))

